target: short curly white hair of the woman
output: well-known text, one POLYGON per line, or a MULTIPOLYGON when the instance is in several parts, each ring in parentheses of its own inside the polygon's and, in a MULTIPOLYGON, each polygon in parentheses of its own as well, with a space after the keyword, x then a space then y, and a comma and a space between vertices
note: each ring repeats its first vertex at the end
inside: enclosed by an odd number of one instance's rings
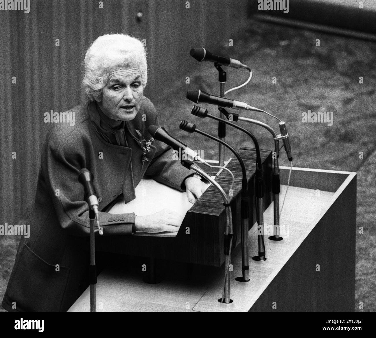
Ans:
POLYGON ((90 101, 100 101, 109 74, 118 68, 139 68, 142 86, 147 83, 146 50, 141 41, 126 34, 97 38, 86 51, 82 84, 90 101))

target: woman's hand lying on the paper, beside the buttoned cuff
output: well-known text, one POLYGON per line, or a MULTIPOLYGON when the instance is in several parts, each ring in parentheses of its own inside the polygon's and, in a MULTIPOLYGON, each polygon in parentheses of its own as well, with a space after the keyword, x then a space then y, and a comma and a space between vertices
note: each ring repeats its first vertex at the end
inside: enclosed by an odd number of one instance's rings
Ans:
POLYGON ((136 231, 144 232, 177 232, 182 221, 182 217, 175 211, 163 209, 152 215, 136 216, 135 227, 136 231))

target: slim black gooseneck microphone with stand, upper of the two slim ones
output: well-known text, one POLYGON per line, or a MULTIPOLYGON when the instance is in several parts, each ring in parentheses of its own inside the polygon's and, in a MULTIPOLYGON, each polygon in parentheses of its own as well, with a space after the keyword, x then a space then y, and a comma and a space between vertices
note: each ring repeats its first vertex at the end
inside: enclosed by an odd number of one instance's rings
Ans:
MULTIPOLYGON (((220 107, 220 110, 221 109, 223 111, 223 108, 220 107)), ((256 149, 255 195, 257 198, 257 202, 256 202, 257 224, 258 224, 258 228, 261 228, 262 230, 258 232, 258 253, 259 254, 258 256, 252 257, 252 259, 255 261, 266 261, 265 244, 264 244, 264 201, 263 201, 264 189, 263 189, 263 177, 262 177, 262 163, 261 163, 260 148, 256 140, 256 137, 247 129, 239 127, 235 123, 232 123, 224 119, 218 118, 217 116, 211 115, 208 113, 207 109, 203 109, 199 106, 193 106, 191 113, 200 118, 209 117, 217 121, 223 121, 223 123, 226 123, 236 129, 243 131, 243 133, 246 133, 252 139, 253 144, 255 145, 255 149, 256 149)), ((248 232, 247 232, 247 238, 248 238, 248 232)))

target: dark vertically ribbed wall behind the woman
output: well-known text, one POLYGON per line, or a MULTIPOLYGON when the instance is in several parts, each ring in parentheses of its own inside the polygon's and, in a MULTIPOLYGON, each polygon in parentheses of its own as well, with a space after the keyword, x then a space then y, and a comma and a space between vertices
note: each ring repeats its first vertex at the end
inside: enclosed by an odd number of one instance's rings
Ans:
POLYGON ((83 57, 94 39, 108 33, 146 39, 145 95, 156 100, 196 65, 190 48, 223 45, 246 8, 247 0, 191 0, 189 9, 185 0, 111 0, 103 1, 103 9, 97 0, 50 0, 30 2, 28 14, 1 11, 0 224, 28 216, 50 127, 44 113, 85 99, 83 57), (137 22, 139 10, 143 18, 137 22))

